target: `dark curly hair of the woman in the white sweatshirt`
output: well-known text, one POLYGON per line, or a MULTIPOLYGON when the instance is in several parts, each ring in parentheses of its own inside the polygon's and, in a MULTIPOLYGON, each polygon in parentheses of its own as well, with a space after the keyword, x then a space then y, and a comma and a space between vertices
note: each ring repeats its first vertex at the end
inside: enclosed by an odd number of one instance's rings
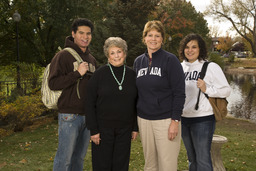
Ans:
POLYGON ((198 60, 199 61, 205 60, 207 58, 207 48, 206 48, 205 41, 199 34, 195 34, 195 33, 188 34, 180 41, 179 58, 181 60, 188 61, 188 59, 186 58, 186 56, 184 54, 184 49, 186 48, 188 42, 190 42, 191 40, 196 40, 198 43, 198 46, 199 46, 198 60))

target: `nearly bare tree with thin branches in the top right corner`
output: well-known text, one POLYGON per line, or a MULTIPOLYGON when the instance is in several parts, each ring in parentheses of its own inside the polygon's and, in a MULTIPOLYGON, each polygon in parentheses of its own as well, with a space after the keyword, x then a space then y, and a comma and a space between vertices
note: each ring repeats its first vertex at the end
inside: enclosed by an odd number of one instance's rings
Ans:
POLYGON ((213 0, 205 14, 215 16, 216 19, 228 20, 233 29, 250 44, 252 53, 256 57, 255 11, 255 0, 232 0, 228 3, 224 0, 213 0))

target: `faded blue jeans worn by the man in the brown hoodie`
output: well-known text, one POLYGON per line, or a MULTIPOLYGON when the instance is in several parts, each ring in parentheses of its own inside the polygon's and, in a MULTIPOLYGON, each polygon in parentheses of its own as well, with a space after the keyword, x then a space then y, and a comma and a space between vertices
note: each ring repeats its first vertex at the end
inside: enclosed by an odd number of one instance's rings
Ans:
POLYGON ((90 141, 85 116, 59 113, 59 145, 53 171, 82 171, 90 141))

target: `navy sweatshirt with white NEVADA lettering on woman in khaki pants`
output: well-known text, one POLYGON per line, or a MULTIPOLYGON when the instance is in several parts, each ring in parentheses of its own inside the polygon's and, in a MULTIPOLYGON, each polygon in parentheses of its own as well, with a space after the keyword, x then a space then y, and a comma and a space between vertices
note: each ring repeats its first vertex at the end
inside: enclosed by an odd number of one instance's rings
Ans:
POLYGON ((137 74, 138 116, 148 120, 180 120, 185 102, 184 72, 178 58, 162 49, 134 61, 137 74))

